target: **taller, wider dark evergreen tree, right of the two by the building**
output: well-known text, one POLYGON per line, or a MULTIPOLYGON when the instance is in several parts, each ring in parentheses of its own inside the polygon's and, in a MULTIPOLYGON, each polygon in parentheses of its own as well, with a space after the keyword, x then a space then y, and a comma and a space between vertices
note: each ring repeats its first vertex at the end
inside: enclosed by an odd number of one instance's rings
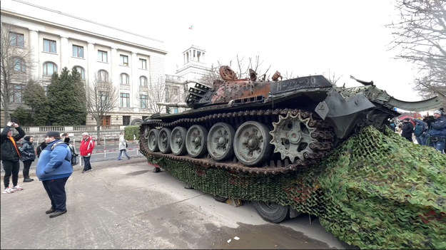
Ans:
POLYGON ((54 73, 48 87, 51 125, 84 125, 86 123, 86 92, 81 74, 74 68, 54 73))

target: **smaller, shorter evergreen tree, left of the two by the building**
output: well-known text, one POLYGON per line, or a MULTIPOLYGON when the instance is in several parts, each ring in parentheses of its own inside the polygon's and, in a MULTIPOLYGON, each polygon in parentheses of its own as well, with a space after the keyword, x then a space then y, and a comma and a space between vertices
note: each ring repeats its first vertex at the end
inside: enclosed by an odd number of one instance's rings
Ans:
POLYGON ((24 103, 31 108, 30 123, 37 126, 49 125, 49 103, 42 85, 29 80, 24 89, 24 103))

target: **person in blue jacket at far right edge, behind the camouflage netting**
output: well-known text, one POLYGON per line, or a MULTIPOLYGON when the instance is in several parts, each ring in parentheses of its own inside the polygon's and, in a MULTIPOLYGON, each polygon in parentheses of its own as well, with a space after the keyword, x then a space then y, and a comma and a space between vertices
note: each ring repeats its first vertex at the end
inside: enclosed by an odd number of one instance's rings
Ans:
POLYGON ((441 110, 437 110, 434 113, 434 118, 435 120, 430 123, 427 145, 443 152, 443 150, 445 150, 446 141, 446 117, 442 116, 441 110))

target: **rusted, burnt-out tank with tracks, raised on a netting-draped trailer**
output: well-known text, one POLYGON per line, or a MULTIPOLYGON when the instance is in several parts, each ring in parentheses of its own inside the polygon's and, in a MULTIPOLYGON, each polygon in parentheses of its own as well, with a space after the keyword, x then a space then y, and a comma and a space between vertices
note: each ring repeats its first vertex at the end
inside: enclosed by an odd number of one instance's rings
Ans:
MULTIPOLYGON (((323 75, 282 80, 238 79, 228 67, 213 86, 195 83, 186 103, 158 103, 191 108, 154 114, 141 125, 141 152, 203 167, 276 175, 311 167, 339 142, 363 127, 383 129, 395 108, 431 110, 437 98, 405 102, 375 87, 335 87, 323 75)), ((352 77, 353 78, 353 77, 352 77)))

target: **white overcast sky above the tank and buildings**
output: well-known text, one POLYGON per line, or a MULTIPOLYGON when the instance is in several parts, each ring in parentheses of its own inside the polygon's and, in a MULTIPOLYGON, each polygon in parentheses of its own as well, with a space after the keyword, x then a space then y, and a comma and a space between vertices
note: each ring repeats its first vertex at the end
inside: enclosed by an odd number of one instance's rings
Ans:
MULTIPOLYGON (((25 0, 29 1, 29 0, 25 0)), ((338 85, 373 80, 400 100, 421 100, 412 90, 417 71, 393 59, 390 24, 395 1, 363 0, 33 0, 33 4, 156 38, 166 45, 166 73, 183 64, 191 44, 206 63, 260 56, 263 68, 296 75, 331 72, 338 85), (189 29, 193 26, 192 29, 189 29)), ((234 68, 234 67, 233 67, 234 68)))

